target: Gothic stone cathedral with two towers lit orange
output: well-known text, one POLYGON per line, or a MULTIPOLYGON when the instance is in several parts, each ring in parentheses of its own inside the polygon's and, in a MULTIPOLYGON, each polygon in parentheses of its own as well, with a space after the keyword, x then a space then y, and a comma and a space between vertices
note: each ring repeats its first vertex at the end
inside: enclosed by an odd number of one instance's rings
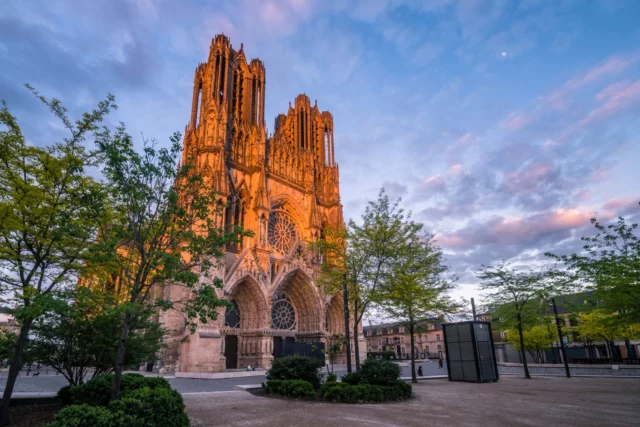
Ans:
MULTIPOLYGON (((317 286, 323 260, 308 247, 327 227, 344 225, 333 117, 298 95, 268 135, 265 92, 264 64, 247 61, 242 45, 235 50, 217 35, 195 71, 182 161, 195 159, 219 192, 224 225, 241 225, 253 236, 226 248, 217 273, 220 297, 233 309, 193 334, 179 311, 161 314, 168 336, 160 371, 268 368, 276 357, 322 348, 344 333, 343 297, 317 286)), ((179 299, 184 289, 166 292, 179 299)), ((344 361, 339 354, 337 363, 344 361)))

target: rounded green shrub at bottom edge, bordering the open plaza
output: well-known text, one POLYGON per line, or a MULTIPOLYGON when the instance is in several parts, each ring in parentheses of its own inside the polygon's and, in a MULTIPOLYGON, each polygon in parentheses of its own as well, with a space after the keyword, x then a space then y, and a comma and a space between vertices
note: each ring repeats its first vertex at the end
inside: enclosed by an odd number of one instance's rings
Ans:
POLYGON ((173 389, 148 387, 124 391, 109 403, 109 410, 129 417, 128 425, 188 427, 182 395, 173 389))

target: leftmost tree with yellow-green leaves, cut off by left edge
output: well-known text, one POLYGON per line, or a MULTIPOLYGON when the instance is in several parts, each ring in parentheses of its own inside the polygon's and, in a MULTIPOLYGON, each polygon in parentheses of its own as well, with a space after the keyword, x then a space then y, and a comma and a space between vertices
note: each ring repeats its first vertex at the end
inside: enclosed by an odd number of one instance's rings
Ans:
POLYGON ((96 238, 101 186, 85 171, 94 164, 84 142, 116 108, 107 98, 73 123, 60 101, 27 86, 62 121, 70 136, 46 147, 28 145, 6 103, 0 108, 0 291, 13 295, 20 333, 0 408, 9 424, 9 399, 34 320, 50 294, 75 283, 96 238))

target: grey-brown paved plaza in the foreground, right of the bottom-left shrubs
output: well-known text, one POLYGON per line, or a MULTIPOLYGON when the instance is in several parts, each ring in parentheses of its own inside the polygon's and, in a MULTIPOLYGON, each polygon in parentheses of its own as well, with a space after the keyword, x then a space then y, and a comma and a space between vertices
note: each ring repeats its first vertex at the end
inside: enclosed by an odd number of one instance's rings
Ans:
POLYGON ((344 405, 247 392, 184 396, 204 426, 632 426, 640 425, 640 381, 626 378, 502 377, 497 383, 421 381, 414 398, 344 405))

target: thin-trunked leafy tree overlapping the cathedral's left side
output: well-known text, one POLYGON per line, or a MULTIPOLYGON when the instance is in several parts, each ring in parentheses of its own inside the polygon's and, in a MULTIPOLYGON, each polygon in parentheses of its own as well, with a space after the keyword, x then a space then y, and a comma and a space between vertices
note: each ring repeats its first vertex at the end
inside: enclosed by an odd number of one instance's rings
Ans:
POLYGON ((218 297, 222 279, 212 273, 221 267, 226 246, 251 233, 224 227, 220 195, 198 174, 190 153, 178 165, 180 134, 171 137, 169 148, 145 139, 142 153, 124 125, 113 134, 104 129, 96 142, 112 203, 110 217, 100 225, 98 267, 109 268, 89 282, 111 277, 121 302, 112 390, 117 399, 136 317, 149 304, 181 310, 192 333, 198 322, 215 320, 217 309, 230 305, 218 297), (184 287, 185 297, 172 300, 169 286, 184 287))

